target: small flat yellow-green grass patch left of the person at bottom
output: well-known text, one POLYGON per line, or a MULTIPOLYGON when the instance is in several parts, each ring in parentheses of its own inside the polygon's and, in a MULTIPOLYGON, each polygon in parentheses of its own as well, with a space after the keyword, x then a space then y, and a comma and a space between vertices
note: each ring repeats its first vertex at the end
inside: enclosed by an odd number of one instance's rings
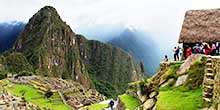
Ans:
POLYGON ((107 107, 108 104, 92 104, 90 106, 82 108, 81 110, 102 110, 107 107))

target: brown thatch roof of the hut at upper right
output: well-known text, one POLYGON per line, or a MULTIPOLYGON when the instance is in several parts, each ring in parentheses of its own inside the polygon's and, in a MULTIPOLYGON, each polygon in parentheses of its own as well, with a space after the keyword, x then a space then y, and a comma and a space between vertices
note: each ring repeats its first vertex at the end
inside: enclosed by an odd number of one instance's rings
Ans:
POLYGON ((220 9, 187 11, 179 43, 216 41, 220 41, 220 9))

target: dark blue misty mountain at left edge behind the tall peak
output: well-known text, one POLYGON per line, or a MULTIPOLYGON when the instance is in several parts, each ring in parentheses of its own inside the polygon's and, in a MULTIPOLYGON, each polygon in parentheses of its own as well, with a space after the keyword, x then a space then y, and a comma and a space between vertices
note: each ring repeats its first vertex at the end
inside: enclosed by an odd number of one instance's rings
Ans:
POLYGON ((12 47, 24 26, 25 23, 18 21, 0 23, 0 52, 12 47))

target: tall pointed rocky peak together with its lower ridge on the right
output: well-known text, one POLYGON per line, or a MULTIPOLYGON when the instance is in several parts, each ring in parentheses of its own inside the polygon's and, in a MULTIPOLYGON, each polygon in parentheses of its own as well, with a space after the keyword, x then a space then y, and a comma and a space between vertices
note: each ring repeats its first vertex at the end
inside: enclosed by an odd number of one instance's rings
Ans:
POLYGON ((96 88, 107 97, 123 93, 129 82, 143 76, 131 55, 76 35, 51 6, 33 15, 13 49, 1 58, 0 63, 10 73, 21 72, 16 69, 22 66, 20 60, 25 59, 25 64, 32 68, 26 71, 32 74, 72 79, 86 88, 96 88), (10 56, 17 62, 13 63, 10 56))

